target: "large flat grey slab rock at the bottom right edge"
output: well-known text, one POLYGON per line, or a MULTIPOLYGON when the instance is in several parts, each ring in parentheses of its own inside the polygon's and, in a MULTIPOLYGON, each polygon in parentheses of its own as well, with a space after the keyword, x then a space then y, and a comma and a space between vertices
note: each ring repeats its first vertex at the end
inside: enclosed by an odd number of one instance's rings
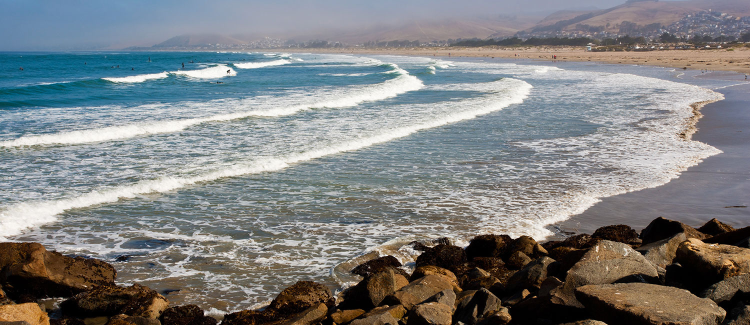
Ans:
POLYGON ((576 296, 597 319, 617 324, 719 324, 726 311, 688 290, 645 283, 578 287, 576 296))

